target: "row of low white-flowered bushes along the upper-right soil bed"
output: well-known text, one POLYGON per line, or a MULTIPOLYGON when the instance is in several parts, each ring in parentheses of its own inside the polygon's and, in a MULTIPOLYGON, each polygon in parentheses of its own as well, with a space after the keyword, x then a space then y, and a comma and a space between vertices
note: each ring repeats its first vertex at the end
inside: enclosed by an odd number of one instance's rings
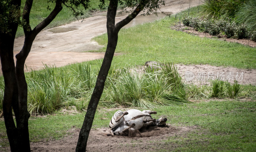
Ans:
POLYGON ((250 38, 256 41, 256 31, 251 31, 244 24, 238 25, 234 21, 229 22, 223 19, 202 19, 186 16, 182 18, 182 23, 184 26, 191 26, 195 30, 207 32, 213 36, 224 32, 227 38, 250 38))

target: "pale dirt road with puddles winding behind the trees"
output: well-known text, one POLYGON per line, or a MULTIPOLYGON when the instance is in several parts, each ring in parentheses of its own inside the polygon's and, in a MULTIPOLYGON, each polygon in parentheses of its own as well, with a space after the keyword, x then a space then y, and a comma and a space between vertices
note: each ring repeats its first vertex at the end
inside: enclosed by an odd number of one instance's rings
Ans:
MULTIPOLYGON (((176 13, 187 9, 189 5, 190 7, 198 5, 198 0, 166 0, 165 6, 161 6, 160 10, 176 13)), ((58 27, 60 30, 61 28, 66 30, 66 32, 51 32, 51 30, 56 28, 40 32, 36 36, 31 52, 26 60, 27 68, 40 69, 44 67, 43 63, 47 65, 55 64, 57 67, 60 67, 71 63, 103 58, 104 53, 86 51, 97 50, 101 47, 96 42, 91 41, 91 39, 107 32, 107 19, 104 14, 106 12, 101 12, 93 17, 84 19, 83 22, 79 20, 58 27), (68 31, 69 29, 72 29, 72 31, 68 31)), ((116 22, 124 19, 127 14, 123 15, 118 15, 116 22)), ((144 19, 141 19, 141 16, 138 17, 136 21, 132 21, 126 27, 136 25, 136 22, 140 23, 141 20, 152 20, 152 17, 147 18, 146 16, 144 19)), ((15 39, 14 55, 21 50, 23 42, 24 37, 15 39)))

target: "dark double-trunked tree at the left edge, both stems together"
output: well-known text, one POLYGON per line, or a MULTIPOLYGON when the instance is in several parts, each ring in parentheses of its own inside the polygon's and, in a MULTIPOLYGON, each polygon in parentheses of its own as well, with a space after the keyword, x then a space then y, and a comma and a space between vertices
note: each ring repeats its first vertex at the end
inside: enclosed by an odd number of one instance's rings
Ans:
MULTIPOLYGON (((13 0, 12 2, 17 2, 13 0)), ((19 1, 20 2, 20 1, 19 1)), ((39 23, 33 30, 29 25, 29 13, 33 0, 26 0, 22 19, 26 21, 23 26, 25 41, 22 50, 16 55, 16 67, 13 60, 13 44, 17 31, 17 24, 10 24, 11 34, 0 34, 0 57, 4 75, 4 100, 3 112, 6 132, 10 143, 11 151, 30 151, 28 133, 28 118, 30 114, 27 109, 28 87, 24 74, 25 60, 31 50, 36 35, 44 29, 62 9, 62 1, 56 0, 53 11, 39 23), (12 108, 15 114, 16 126, 12 116, 12 108)), ((20 4, 13 4, 19 7, 20 4)))

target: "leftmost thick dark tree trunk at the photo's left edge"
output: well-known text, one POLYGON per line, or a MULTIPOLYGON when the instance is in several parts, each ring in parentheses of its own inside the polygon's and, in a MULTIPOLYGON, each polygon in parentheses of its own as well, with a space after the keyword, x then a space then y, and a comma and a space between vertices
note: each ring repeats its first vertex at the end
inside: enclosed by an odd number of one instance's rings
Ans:
MULTIPOLYGON (((10 6, 15 6, 17 10, 20 10, 20 0, 10 1, 10 6)), ((16 11, 17 11, 16 10, 16 11)), ((11 13, 15 13, 11 12, 11 13)), ((29 145, 20 145, 20 140, 18 138, 18 130, 15 126, 12 108, 15 115, 19 115, 19 104, 18 104, 18 89, 17 81, 15 76, 15 65, 13 60, 13 44, 15 39, 15 34, 18 28, 18 22, 13 22, 8 20, 7 29, 10 32, 0 33, 0 58, 2 64, 2 72, 4 76, 4 99, 3 99, 3 113, 4 113, 4 123, 6 127, 7 137, 10 143, 11 151, 19 151, 20 149, 27 150, 29 145), (21 146, 21 147, 20 147, 21 146)), ((17 117, 16 117, 17 120, 17 117)), ((29 149, 30 150, 30 149, 29 149)), ((28 151, 28 150, 27 150, 28 151)))

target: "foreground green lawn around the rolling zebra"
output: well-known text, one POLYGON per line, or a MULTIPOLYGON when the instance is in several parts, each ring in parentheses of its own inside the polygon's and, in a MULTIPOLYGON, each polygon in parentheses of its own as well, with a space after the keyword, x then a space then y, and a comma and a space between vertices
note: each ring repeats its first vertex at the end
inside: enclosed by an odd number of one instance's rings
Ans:
MULTIPOLYGON (((172 136, 163 140, 164 144, 175 143, 175 151, 253 151, 256 148, 256 102, 235 100, 202 101, 185 106, 165 106, 155 108, 154 117, 165 116, 172 126, 197 126, 198 129, 188 132, 187 137, 172 136), (242 137, 242 138, 241 138, 242 137)), ((138 108, 143 110, 141 108, 138 108)), ((93 121, 93 128, 108 127, 109 120, 116 110, 98 109, 93 121), (103 120, 102 118, 109 118, 103 120)), ((46 117, 29 119, 31 141, 42 139, 61 139, 72 127, 81 128, 85 113, 68 115, 56 112, 46 117)), ((1 138, 7 146, 4 121, 0 121, 1 138)), ((161 142, 161 141, 159 141, 161 142)), ((160 151, 168 151, 161 149, 160 151)))

